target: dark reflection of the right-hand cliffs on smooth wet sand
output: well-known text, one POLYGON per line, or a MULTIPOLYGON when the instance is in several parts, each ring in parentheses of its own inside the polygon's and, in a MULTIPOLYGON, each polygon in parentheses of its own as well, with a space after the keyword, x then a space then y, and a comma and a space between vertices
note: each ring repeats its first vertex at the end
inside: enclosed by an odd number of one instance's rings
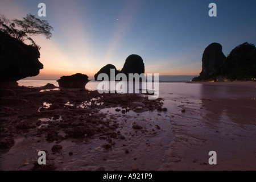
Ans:
POLYGON ((255 89, 202 85, 201 95, 206 117, 213 122, 227 119, 238 124, 256 125, 255 89))

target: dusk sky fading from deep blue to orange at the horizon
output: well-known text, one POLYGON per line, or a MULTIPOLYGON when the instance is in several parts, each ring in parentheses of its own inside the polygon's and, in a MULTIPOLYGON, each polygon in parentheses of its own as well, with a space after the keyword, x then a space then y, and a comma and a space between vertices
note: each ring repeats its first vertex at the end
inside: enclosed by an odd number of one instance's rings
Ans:
POLYGON ((131 54, 145 73, 199 75, 204 49, 220 43, 224 55, 256 44, 256 1, 217 0, 0 0, 0 14, 22 19, 31 13, 53 27, 52 38, 34 38, 44 69, 36 78, 83 73, 94 76, 106 64, 122 69, 131 54), (39 3, 46 17, 39 17, 39 3), (217 16, 208 7, 216 3, 217 16))

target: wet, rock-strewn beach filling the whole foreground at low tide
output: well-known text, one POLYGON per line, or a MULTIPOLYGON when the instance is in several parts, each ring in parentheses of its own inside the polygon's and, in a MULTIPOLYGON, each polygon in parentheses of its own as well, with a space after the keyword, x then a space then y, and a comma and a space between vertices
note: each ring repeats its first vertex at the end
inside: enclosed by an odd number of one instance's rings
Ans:
POLYGON ((42 91, 1 89, 1 170, 256 169, 256 82, 162 83, 158 100, 42 91))

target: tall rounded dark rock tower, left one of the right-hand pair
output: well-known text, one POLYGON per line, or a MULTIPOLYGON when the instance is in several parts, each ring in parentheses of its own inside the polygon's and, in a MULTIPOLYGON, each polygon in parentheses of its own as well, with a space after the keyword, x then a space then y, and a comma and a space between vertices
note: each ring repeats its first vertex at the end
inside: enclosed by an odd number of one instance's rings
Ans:
POLYGON ((205 48, 202 58, 202 72, 200 76, 211 76, 220 67, 226 56, 222 52, 222 46, 219 43, 212 43, 205 48))

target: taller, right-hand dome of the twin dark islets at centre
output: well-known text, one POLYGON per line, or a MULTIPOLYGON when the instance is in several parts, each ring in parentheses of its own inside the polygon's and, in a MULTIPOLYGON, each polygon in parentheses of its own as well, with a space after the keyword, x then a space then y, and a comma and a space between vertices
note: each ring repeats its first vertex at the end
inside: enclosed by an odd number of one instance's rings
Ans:
POLYGON ((145 72, 144 63, 141 56, 138 55, 130 55, 125 60, 125 64, 121 70, 121 73, 125 73, 128 77, 129 73, 141 73, 145 72))

